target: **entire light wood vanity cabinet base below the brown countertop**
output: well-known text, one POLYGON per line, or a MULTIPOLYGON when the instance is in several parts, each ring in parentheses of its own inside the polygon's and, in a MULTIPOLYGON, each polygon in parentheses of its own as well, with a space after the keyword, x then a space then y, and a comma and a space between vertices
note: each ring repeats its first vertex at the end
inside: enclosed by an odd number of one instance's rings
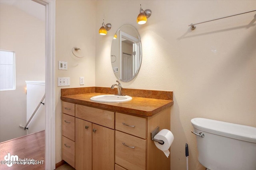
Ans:
POLYGON ((151 140, 170 129, 170 107, 146 117, 62 102, 62 113, 62 159, 76 170, 170 170, 151 140))

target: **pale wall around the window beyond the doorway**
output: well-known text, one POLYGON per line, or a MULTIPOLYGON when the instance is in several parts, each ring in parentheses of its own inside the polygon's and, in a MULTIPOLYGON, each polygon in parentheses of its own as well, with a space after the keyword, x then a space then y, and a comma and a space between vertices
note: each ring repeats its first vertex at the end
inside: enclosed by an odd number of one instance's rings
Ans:
MULTIPOLYGON (((32 3, 35 4, 34 8, 38 9, 37 11, 44 9, 44 6, 32 3)), ((0 92, 2 142, 26 135, 26 131, 19 127, 26 124, 25 81, 45 79, 44 20, 1 2, 0 49, 14 51, 16 58, 16 90, 0 92)))

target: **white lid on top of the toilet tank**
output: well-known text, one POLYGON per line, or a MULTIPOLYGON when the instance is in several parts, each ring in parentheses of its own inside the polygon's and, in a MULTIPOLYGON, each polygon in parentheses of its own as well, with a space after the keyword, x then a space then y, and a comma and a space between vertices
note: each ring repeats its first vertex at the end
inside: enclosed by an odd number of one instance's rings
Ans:
POLYGON ((191 119, 194 128, 216 135, 256 143, 256 127, 205 118, 191 119))

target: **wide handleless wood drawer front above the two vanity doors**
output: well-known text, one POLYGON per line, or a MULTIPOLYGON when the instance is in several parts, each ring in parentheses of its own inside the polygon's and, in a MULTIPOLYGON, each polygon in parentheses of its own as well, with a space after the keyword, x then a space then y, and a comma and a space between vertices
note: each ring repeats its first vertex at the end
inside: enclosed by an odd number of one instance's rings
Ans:
POLYGON ((115 129, 115 113, 113 111, 76 104, 76 117, 115 129))

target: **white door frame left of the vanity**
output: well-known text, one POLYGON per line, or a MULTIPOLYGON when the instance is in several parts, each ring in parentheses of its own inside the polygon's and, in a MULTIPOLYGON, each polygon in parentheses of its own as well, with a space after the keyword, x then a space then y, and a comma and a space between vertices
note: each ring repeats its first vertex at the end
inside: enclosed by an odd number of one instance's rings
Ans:
POLYGON ((45 6, 45 169, 55 169, 55 0, 33 0, 45 6))

